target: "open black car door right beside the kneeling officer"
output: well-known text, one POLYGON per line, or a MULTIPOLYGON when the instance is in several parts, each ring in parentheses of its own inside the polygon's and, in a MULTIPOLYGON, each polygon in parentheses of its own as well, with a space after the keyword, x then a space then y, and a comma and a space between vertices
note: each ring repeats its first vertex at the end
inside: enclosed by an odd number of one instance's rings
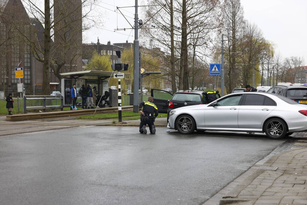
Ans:
POLYGON ((158 107, 159 113, 167 113, 169 101, 172 99, 173 94, 168 91, 151 89, 151 96, 153 97, 153 103, 158 107))

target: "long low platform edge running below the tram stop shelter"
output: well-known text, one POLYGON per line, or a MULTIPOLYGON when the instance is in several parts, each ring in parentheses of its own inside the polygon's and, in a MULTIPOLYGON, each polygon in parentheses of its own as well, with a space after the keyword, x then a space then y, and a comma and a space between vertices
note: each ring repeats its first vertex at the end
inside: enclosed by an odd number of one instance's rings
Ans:
MULTIPOLYGON (((122 106, 122 111, 133 111, 133 106, 122 106)), ((67 110, 67 111, 56 111, 56 112, 43 112, 43 113, 31 113, 31 114, 16 114, 16 115, 7 115, 7 121, 20 121, 20 120, 33 120, 41 118, 58 118, 66 117, 71 115, 84 115, 84 114, 93 114, 95 109, 84 109, 84 110, 67 110)), ((101 113, 114 113, 118 112, 118 107, 106 107, 98 108, 95 114, 101 113)))

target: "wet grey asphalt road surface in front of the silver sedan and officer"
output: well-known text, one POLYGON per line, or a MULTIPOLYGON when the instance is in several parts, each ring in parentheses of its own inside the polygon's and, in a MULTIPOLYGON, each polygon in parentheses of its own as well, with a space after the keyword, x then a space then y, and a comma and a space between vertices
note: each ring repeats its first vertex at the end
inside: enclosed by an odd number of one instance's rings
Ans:
POLYGON ((0 138, 1 204, 201 204, 285 140, 93 126, 0 138))

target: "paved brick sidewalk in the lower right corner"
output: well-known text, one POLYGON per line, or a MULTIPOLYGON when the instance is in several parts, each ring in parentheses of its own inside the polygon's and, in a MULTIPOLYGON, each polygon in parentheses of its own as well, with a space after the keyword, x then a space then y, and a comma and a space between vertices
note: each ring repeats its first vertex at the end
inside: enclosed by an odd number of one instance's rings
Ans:
MULTIPOLYGON (((306 133, 298 133, 305 136, 306 133)), ((307 140, 296 144, 307 145, 307 140)), ((294 149, 255 164, 204 205, 307 204, 307 148, 294 149)))

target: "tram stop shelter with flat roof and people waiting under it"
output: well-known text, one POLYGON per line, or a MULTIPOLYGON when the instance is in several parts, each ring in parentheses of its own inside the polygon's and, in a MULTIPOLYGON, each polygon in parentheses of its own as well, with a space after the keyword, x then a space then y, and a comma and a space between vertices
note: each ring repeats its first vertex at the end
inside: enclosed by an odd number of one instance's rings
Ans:
MULTIPOLYGON (((105 91, 110 92, 109 100, 112 103, 112 106, 117 106, 117 89, 109 88, 109 78, 113 76, 114 73, 117 72, 107 72, 107 71, 77 71, 77 72, 66 72, 60 73, 62 75, 61 79, 61 95, 63 96, 63 106, 71 106, 72 99, 70 94, 70 89, 73 84, 76 84, 77 93, 79 92, 80 87, 82 85, 90 85, 91 88, 97 88, 98 95, 104 95, 105 91)), ((129 73, 125 73, 129 75, 129 73)), ((78 94, 79 95, 79 94, 78 94)), ((95 103, 95 102, 94 102, 95 103)))

